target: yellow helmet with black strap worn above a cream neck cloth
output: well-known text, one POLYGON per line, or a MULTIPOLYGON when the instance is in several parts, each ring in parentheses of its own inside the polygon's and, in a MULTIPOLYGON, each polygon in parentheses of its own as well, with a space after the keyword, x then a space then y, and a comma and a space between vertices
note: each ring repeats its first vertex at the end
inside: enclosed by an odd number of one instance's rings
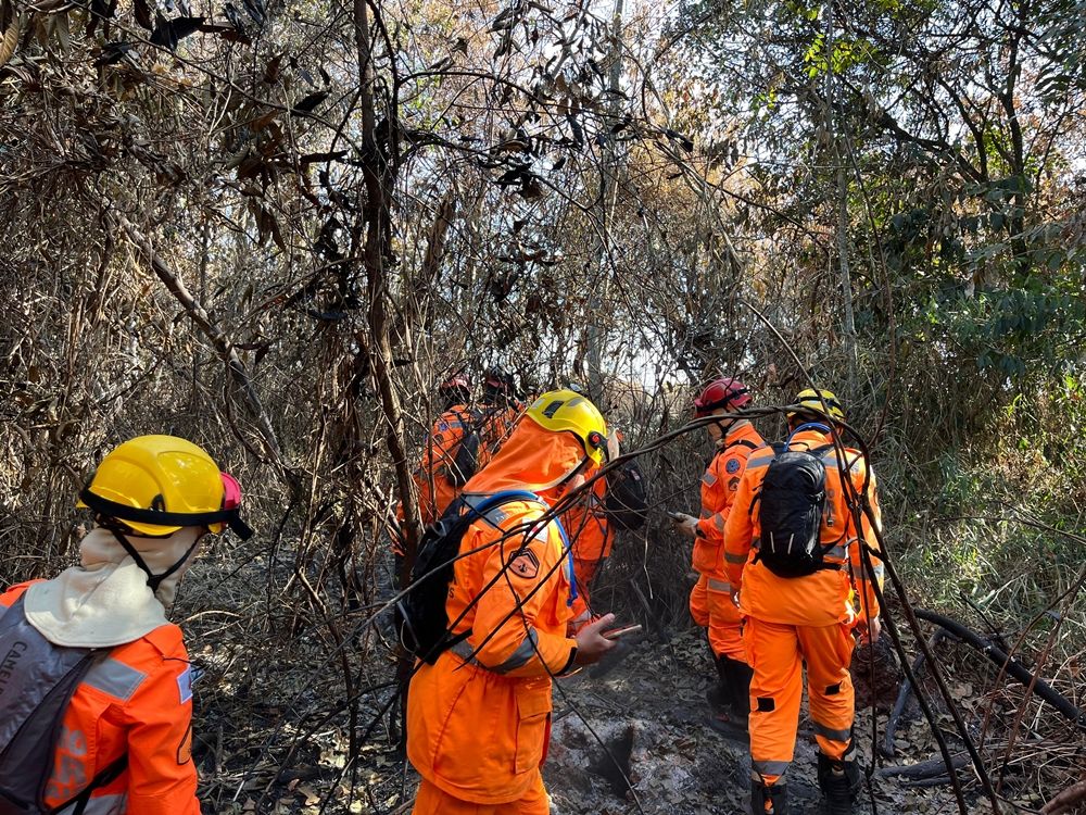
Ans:
POLYGON ((109 453, 76 506, 116 518, 137 535, 157 538, 186 526, 213 532, 229 525, 240 537, 241 487, 202 448, 174 436, 140 436, 109 453))

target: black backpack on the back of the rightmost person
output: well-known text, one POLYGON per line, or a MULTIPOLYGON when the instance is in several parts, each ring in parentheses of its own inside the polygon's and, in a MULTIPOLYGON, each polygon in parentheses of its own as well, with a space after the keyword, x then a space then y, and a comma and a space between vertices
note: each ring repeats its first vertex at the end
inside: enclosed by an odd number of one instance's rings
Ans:
POLYGON ((825 465, 821 453, 832 446, 815 450, 788 450, 773 444, 773 460, 750 505, 758 507, 761 540, 755 563, 759 561, 778 577, 806 577, 822 569, 839 569, 841 564, 824 563, 836 541, 821 543, 822 514, 825 510, 825 465))

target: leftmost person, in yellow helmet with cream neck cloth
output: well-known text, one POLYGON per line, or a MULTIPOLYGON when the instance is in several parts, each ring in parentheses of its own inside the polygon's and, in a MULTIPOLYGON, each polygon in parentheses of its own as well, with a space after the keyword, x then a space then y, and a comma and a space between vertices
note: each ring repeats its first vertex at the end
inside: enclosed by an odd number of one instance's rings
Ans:
POLYGON ((199 815, 192 673, 166 609, 204 535, 229 525, 249 537, 240 501, 238 482, 184 439, 142 436, 102 460, 80 493, 97 521, 80 541, 80 565, 0 595, 0 643, 16 637, 39 668, 29 681, 17 666, 5 674, 0 732, 31 720, 31 707, 61 724, 52 756, 37 766, 18 760, 40 740, 12 747, 16 763, 0 767, 0 790, 18 797, 12 786, 34 788, 22 800, 40 797, 42 812, 73 804, 87 815, 199 815), (90 649, 106 655, 88 656, 90 649), (70 657, 89 668, 67 704, 56 704, 42 686, 56 686, 49 666, 70 657), (20 682, 41 698, 20 707, 4 692, 20 682), (43 785, 35 780, 42 773, 43 785))

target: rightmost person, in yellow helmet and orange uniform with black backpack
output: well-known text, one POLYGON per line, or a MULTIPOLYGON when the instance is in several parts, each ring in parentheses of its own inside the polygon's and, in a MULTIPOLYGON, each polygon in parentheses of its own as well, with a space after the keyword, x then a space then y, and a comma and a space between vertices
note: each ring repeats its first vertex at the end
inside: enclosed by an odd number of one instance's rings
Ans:
POLYGON ((752 808, 756 815, 787 812, 784 775, 795 749, 806 662, 819 786, 826 812, 847 815, 860 777, 848 673, 853 634, 879 637, 871 579, 881 585, 882 563, 871 554, 877 550, 874 527, 862 514, 857 528, 845 485, 879 526, 875 477, 860 452, 835 448, 836 422, 845 414, 832 392, 803 391, 787 416, 786 446, 750 457, 724 530, 754 668, 752 808), (861 546, 872 574, 862 566, 861 546))

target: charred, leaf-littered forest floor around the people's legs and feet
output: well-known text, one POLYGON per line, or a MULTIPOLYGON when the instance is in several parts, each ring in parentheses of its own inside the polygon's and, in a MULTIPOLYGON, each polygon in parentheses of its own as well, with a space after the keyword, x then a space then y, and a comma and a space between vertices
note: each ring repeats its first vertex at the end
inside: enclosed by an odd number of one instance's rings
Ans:
MULTIPOLYGON (((237 599, 241 601, 261 582, 247 581, 247 574, 267 579, 265 569, 270 564, 257 556, 240 569, 227 570, 226 565, 206 564, 211 568, 205 567, 198 581, 201 589, 217 587, 217 591, 232 584, 239 587, 237 599)), ((258 601, 250 595, 247 602, 258 601)), ((237 611, 252 612, 247 602, 240 602, 237 611)), ((197 711, 194 745, 205 812, 303 815, 409 812, 417 778, 401 761, 396 731, 387 715, 394 704, 391 685, 394 661, 390 652, 368 651, 371 657, 358 666, 358 687, 376 690, 363 697, 358 709, 355 732, 359 735, 356 744, 359 761, 352 773, 348 762, 349 718, 339 703, 344 698, 343 686, 337 660, 329 660, 323 626, 312 618, 305 622, 304 616, 292 616, 289 609, 280 609, 268 616, 273 626, 278 617, 285 626, 308 625, 308 630, 273 627, 257 643, 252 631, 245 632, 229 623, 223 626, 222 614, 226 612, 198 614, 186 625, 193 656, 206 670, 206 680, 198 684, 202 699, 197 711)), ((639 641, 623 643, 628 653, 609 669, 594 666, 556 682, 554 730, 544 769, 553 812, 556 815, 747 812, 746 744, 725 738, 705 724, 708 715, 705 692, 714 673, 702 632, 686 626, 647 628, 639 641), (622 773, 616 770, 616 762, 622 773), (627 789, 623 774, 632 791, 627 789)), ((983 715, 982 686, 986 687, 990 679, 984 664, 961 649, 946 651, 940 659, 945 659, 949 668, 952 694, 971 727, 977 726, 983 715)), ((896 672, 892 668, 892 673, 896 672)), ((1020 689, 999 694, 1013 695, 1016 690, 1020 689)), ((881 685, 881 710, 888 710, 896 692, 896 677, 881 685)), ((897 755, 881 764, 914 764, 937 754, 930 728, 914 707, 913 704, 898 728, 897 755)), ((949 717, 940 712, 938 718, 949 738, 952 730, 949 717)), ((886 715, 881 712, 880 738, 885 722, 886 715)), ((862 762, 870 766, 870 709, 860 711, 856 729, 862 762)), ((1033 738, 1026 732, 1023 745, 1033 738)), ((1037 757, 1038 765, 1062 763, 1073 768, 1074 756, 1078 755, 1081 761, 1081 748, 1076 744, 1081 740, 1074 737, 1062 747, 1051 740, 1037 740, 1030 753, 1037 757)), ((951 749, 955 748, 960 745, 951 740, 951 749)), ((796 760, 790 772, 795 812, 818 812, 815 767, 813 736, 805 705, 796 760)), ((965 772, 962 779, 971 811, 988 812, 987 804, 980 801, 972 776, 965 772)), ((1033 768, 1020 767, 1012 770, 1005 794, 1030 807, 1023 811, 1036 811, 1041 803, 1036 792, 1038 781, 1033 768)), ((900 779, 875 775, 871 791, 873 794, 862 807, 857 807, 857 813, 956 812, 948 786, 908 787, 900 779)))

